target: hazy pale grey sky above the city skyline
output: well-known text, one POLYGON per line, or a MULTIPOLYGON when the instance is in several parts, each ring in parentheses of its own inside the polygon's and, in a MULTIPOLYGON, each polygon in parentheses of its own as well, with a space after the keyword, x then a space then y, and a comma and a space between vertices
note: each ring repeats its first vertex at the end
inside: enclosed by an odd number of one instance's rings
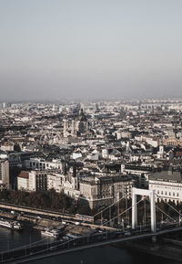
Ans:
POLYGON ((0 100, 181 90, 182 0, 0 0, 0 100))

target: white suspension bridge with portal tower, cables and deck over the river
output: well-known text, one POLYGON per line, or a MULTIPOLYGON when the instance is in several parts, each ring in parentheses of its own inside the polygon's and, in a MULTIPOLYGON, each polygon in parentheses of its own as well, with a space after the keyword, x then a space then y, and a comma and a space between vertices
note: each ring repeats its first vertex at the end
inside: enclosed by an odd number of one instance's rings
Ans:
MULTIPOLYGON (((170 207, 170 210, 175 212, 176 217, 174 218, 174 214, 173 216, 170 216, 168 212, 165 212, 156 205, 155 197, 157 198, 158 196, 154 191, 133 188, 131 206, 128 206, 125 210, 119 212, 118 205, 123 199, 125 199, 125 197, 122 197, 113 205, 107 206, 96 213, 94 218, 95 221, 98 221, 98 217, 100 217, 100 230, 96 230, 95 228, 92 229, 92 232, 89 232, 86 235, 76 238, 67 238, 66 240, 60 238, 59 240, 53 241, 52 243, 47 242, 48 240, 45 238, 35 243, 25 245, 24 247, 2 251, 0 252, 0 263, 25 263, 27 261, 34 261, 35 259, 44 259, 51 256, 66 254, 68 252, 74 252, 76 250, 96 248, 118 242, 132 241, 142 238, 153 238, 155 241, 158 236, 181 231, 182 215, 180 210, 177 210, 176 207, 165 202, 165 204, 170 207), (137 195, 142 197, 137 200, 137 195), (145 225, 141 225, 141 223, 140 225, 137 225, 137 206, 143 203, 147 198, 149 198, 150 201, 150 225, 147 223, 145 223, 145 225), (113 206, 118 206, 116 216, 112 216, 111 214, 111 208, 113 206), (160 221, 159 223, 157 222, 157 210, 162 214, 162 216, 167 216, 166 221, 160 221), (121 221, 121 216, 126 216, 129 211, 132 214, 132 217, 130 217, 131 227, 125 227, 125 220, 121 221), (103 216, 105 216, 106 212, 108 213, 107 215, 109 217, 108 219, 105 219, 105 217, 103 219, 103 216), (118 227, 119 221, 120 227, 118 227), (112 227, 108 228, 109 226, 112 227)), ((86 225, 86 220, 81 224, 86 225)), ((95 225, 92 224, 92 226, 94 227, 95 225)), ((98 226, 96 225, 96 227, 98 226)))

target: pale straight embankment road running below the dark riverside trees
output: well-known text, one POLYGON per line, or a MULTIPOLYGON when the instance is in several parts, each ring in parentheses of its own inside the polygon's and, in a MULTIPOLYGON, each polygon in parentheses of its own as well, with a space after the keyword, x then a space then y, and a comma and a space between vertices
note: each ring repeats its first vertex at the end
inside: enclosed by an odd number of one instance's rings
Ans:
POLYGON ((75 215, 58 213, 52 210, 37 209, 34 207, 29 207, 29 206, 15 206, 15 205, 3 203, 3 202, 0 203, 0 208, 3 208, 5 210, 13 210, 13 211, 18 211, 18 212, 30 213, 35 216, 45 216, 45 217, 50 216, 50 217, 57 217, 57 218, 59 217, 61 218, 61 220, 65 220, 72 224, 74 224, 75 222, 80 222, 81 226, 88 226, 88 227, 95 227, 95 228, 99 227, 101 229, 107 229, 110 231, 116 230, 116 228, 114 227, 104 227, 104 226, 95 225, 94 223, 89 223, 88 221, 85 222, 83 220, 79 220, 75 215))

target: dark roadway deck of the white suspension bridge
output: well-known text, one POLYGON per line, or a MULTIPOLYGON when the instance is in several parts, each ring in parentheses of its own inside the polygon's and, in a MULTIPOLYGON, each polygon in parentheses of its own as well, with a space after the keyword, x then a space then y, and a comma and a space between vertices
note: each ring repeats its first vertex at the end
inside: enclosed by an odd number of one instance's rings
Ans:
POLYGON ((70 253, 70 252, 74 252, 74 251, 77 251, 77 250, 83 250, 83 249, 86 249, 86 248, 103 247, 103 246, 115 244, 115 243, 118 243, 118 242, 131 241, 131 240, 134 240, 134 239, 157 237, 157 236, 165 235, 167 233, 177 232, 177 231, 181 231, 181 230, 182 230, 182 227, 172 227, 172 228, 169 228, 169 229, 157 231, 156 233, 151 233, 150 232, 150 233, 136 234, 136 235, 131 235, 131 236, 124 237, 124 238, 111 238, 111 239, 108 239, 106 237, 102 241, 94 241, 94 242, 89 242, 87 240, 87 244, 86 244, 86 237, 85 237, 85 243, 83 243, 84 241, 82 241, 82 243, 84 245, 78 245, 78 246, 76 246, 76 243, 74 243, 74 242, 76 242, 76 240, 80 239, 80 238, 74 238, 74 239, 71 239, 71 240, 69 240, 67 242, 64 242, 64 243, 62 242, 61 244, 58 244, 55 247, 46 248, 46 249, 41 250, 39 252, 35 252, 35 253, 31 253, 30 255, 22 256, 22 257, 20 257, 18 259, 8 259, 8 260, 3 260, 2 259, 0 263, 20 264, 20 263, 25 263, 25 262, 31 262, 31 261, 35 261, 37 259, 50 258, 50 257, 53 257, 53 256, 67 254, 67 253, 70 253), (66 247, 61 249, 61 246, 64 245, 64 244, 66 245, 66 247), (72 245, 72 247, 71 247, 71 245, 72 245))

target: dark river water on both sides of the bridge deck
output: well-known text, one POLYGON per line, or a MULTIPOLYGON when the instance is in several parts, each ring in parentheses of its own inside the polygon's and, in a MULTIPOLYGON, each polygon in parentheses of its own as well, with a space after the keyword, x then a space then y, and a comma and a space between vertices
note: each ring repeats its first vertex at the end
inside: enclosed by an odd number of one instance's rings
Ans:
MULTIPOLYGON (((25 246, 43 239, 37 230, 24 230, 19 233, 0 227, 0 251, 25 246)), ((134 253, 123 248, 107 246, 90 248, 50 259, 35 260, 29 264, 181 264, 174 260, 161 259, 147 254, 134 253)))

